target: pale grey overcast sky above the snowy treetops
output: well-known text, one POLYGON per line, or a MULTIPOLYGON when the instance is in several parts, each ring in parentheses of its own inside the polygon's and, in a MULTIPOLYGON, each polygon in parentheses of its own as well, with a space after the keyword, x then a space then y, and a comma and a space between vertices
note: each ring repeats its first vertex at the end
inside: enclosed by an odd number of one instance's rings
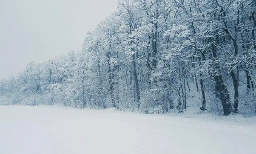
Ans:
POLYGON ((116 10, 118 0, 0 0, 0 79, 29 62, 79 51, 87 31, 116 10))

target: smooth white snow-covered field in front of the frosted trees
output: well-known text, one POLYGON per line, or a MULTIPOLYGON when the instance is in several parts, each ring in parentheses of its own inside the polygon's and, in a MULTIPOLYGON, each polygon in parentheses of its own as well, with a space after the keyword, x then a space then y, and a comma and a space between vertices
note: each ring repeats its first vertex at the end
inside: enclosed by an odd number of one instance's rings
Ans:
POLYGON ((248 119, 0 106, 0 153, 253 154, 256 121, 248 119))

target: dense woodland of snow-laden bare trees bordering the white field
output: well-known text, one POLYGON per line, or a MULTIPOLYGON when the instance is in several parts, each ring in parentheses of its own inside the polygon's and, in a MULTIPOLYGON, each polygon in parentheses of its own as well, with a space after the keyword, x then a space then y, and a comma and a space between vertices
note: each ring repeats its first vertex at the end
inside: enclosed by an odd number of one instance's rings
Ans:
POLYGON ((81 51, 2 80, 0 103, 253 113, 255 31, 256 0, 120 0, 81 51))

